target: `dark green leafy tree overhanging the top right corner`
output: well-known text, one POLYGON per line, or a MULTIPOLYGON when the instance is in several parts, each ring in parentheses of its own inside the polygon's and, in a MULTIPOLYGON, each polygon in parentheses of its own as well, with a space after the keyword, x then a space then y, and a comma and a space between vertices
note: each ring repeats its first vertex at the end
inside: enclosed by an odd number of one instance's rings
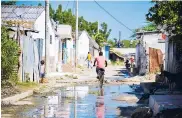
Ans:
POLYGON ((168 33, 182 34, 182 2, 181 1, 154 1, 146 19, 156 25, 163 26, 168 33))

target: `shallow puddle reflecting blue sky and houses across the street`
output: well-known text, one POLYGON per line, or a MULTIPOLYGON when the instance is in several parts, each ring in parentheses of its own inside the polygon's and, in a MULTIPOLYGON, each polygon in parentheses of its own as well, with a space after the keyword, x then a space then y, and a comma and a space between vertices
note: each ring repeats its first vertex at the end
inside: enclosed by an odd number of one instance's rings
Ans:
MULTIPOLYGON (((135 103, 116 101, 112 98, 127 92, 133 92, 128 85, 107 85, 103 89, 97 86, 76 86, 77 118, 114 118, 116 108, 136 106, 135 103)), ((32 96, 29 98, 35 106, 16 111, 20 118, 74 118, 74 87, 64 87, 50 96, 32 96)))

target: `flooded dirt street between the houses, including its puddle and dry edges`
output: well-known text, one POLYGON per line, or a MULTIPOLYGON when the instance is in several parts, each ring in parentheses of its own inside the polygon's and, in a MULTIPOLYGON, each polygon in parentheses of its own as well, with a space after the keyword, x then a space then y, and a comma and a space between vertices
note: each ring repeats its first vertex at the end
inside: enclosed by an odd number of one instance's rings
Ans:
POLYGON ((107 82, 102 90, 95 78, 95 68, 78 69, 76 79, 71 79, 75 76, 71 74, 52 77, 44 85, 45 90, 34 92, 14 105, 2 107, 2 118, 73 118, 75 108, 77 118, 96 118, 98 115, 102 118, 129 117, 136 107, 141 106, 137 104, 141 91, 135 92, 131 86, 139 84, 140 79, 134 77, 124 81, 122 69, 121 66, 106 69, 107 82), (103 96, 100 91, 103 91, 103 96))

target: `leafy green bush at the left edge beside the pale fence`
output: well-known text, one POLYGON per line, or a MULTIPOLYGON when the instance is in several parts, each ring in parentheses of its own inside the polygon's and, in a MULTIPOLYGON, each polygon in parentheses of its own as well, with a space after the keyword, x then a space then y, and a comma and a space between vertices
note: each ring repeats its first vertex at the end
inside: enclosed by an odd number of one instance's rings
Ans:
POLYGON ((1 81, 14 80, 14 67, 18 65, 18 44, 9 38, 8 30, 1 27, 1 81))

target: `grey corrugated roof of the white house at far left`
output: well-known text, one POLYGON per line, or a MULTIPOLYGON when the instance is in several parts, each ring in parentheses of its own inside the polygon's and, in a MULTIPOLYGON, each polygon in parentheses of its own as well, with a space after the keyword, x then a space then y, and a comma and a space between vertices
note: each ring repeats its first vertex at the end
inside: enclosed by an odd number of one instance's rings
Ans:
POLYGON ((44 7, 42 6, 2 5, 1 20, 35 21, 43 11, 44 7))

